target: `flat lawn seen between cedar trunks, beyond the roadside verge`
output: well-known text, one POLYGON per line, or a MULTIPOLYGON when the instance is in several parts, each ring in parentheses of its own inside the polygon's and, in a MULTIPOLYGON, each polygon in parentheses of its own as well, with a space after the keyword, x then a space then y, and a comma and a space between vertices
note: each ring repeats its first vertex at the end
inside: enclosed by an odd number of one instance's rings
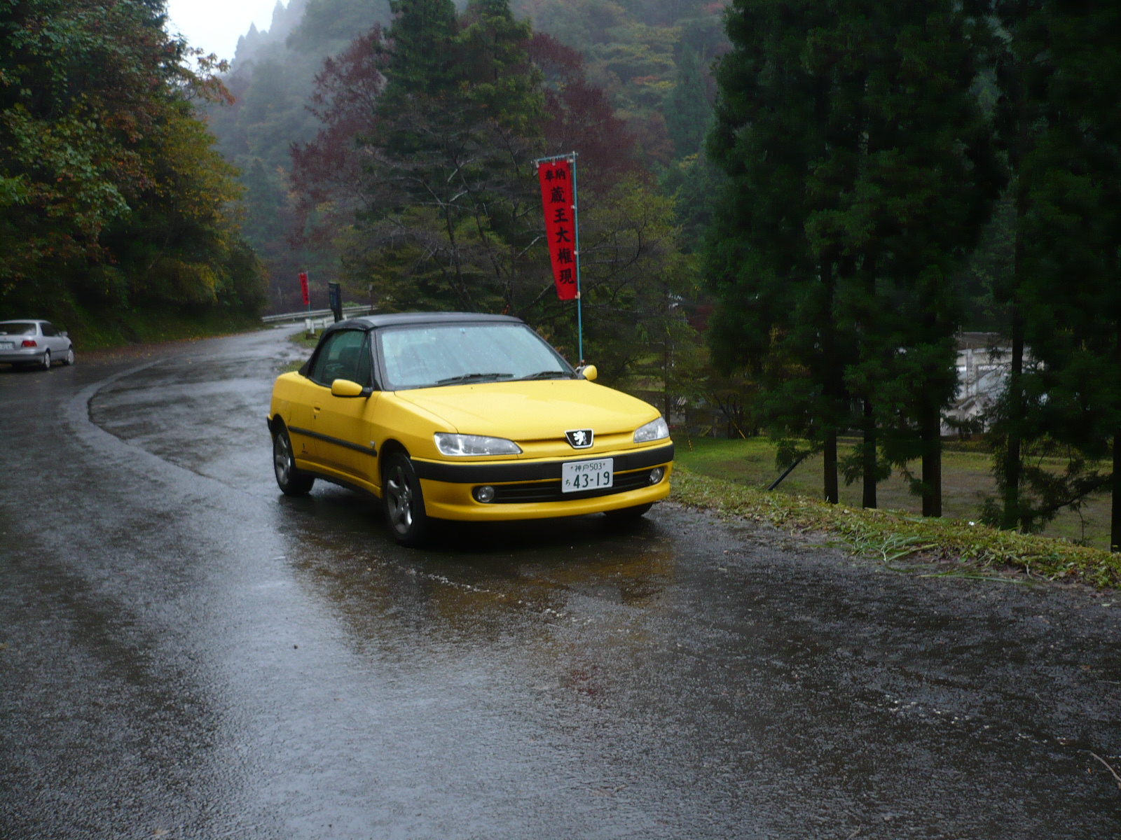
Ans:
MULTIPOLYGON (((677 463, 696 474, 722 478, 748 487, 763 488, 779 476, 775 467, 776 446, 767 438, 726 440, 717 438, 685 438, 676 435, 677 463), (684 438, 684 439, 683 439, 684 438)), ((851 444, 841 442, 841 454, 849 451, 851 444)), ((1060 468, 1058 461, 1054 465, 1060 468)), ((918 473, 919 465, 910 468, 918 473)), ((994 495, 991 455, 978 441, 951 442, 943 452, 943 515, 964 522, 976 521, 981 512, 982 495, 994 495)), ((822 458, 815 456, 804 460, 779 485, 776 493, 822 497, 822 458)), ((910 493, 906 479, 898 470, 882 482, 877 492, 881 508, 920 513, 921 501, 910 493)), ((841 503, 851 507, 861 504, 860 483, 844 486, 842 478, 841 503)), ((1097 494, 1091 497, 1082 512, 1065 511, 1055 519, 1045 535, 1084 542, 1099 549, 1109 548, 1110 497, 1097 494)))

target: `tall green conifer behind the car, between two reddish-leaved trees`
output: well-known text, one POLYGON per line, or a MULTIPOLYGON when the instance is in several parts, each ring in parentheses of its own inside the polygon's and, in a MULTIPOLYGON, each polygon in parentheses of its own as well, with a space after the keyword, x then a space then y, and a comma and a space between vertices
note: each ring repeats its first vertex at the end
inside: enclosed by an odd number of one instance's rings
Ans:
POLYGON ((506 0, 476 0, 460 20, 443 0, 395 8, 386 88, 363 141, 368 243, 399 255, 391 273, 408 278, 414 305, 501 309, 536 232, 541 95, 529 26, 506 0))

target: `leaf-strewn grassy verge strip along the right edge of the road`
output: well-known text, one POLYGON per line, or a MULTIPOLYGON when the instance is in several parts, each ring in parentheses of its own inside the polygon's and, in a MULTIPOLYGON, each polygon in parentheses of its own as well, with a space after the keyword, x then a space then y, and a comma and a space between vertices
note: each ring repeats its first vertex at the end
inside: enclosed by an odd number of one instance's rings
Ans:
POLYGON ((874 558, 893 571, 1001 581, 1066 578, 1100 589, 1121 586, 1121 556, 1109 551, 970 525, 961 520, 924 519, 882 508, 865 511, 790 493, 767 493, 700 475, 685 466, 687 461, 687 457, 678 458, 671 495, 675 501, 786 531, 833 534, 854 553, 874 558), (910 562, 900 566, 905 560, 910 562), (1026 577, 1008 577, 1009 570, 1026 577))

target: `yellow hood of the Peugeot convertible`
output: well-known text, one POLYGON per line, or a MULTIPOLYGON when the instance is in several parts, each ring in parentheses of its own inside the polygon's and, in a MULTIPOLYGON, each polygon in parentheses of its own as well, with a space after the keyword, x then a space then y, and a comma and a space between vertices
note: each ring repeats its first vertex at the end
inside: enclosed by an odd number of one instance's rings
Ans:
POLYGON ((511 440, 563 438, 569 429, 615 435, 659 416, 649 403, 586 380, 484 382, 398 391, 397 396, 439 417, 461 435, 511 440))

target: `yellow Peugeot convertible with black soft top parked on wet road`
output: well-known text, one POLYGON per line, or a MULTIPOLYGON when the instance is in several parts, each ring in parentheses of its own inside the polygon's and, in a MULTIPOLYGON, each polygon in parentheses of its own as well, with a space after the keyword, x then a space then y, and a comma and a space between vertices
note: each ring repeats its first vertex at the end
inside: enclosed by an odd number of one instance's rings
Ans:
POLYGON ((658 410, 591 382, 517 318, 373 315, 334 324, 272 386, 277 484, 382 501, 393 538, 430 520, 641 516, 669 494, 658 410))

